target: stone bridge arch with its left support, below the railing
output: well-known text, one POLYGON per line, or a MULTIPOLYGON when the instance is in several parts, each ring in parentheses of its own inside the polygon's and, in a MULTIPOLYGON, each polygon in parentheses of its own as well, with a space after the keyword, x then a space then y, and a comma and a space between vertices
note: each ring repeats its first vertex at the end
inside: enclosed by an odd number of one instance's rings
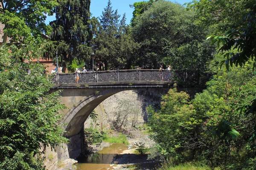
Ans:
POLYGON ((64 136, 70 139, 65 147, 58 147, 58 159, 76 158, 84 151, 84 122, 90 113, 108 97, 128 90, 149 91, 150 93, 166 94, 171 86, 116 86, 103 88, 69 87, 60 92, 61 102, 69 109, 64 110, 61 122, 65 123, 64 136))

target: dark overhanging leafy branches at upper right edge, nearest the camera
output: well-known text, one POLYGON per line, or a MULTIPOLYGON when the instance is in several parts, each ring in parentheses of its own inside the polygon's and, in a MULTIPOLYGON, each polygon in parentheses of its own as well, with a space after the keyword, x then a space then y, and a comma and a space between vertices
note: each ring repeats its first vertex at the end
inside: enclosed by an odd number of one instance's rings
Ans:
MULTIPOLYGON (((241 3, 241 2, 240 2, 241 3)), ((227 70, 229 65, 233 67, 233 64, 242 66, 248 60, 255 59, 255 43, 256 43, 256 6, 255 0, 249 0, 243 4, 243 14, 238 17, 241 20, 241 26, 235 26, 225 31, 223 36, 209 35, 207 39, 212 39, 212 43, 217 43, 219 51, 225 60, 221 62, 221 65, 225 63, 227 70), (220 44, 222 45, 220 47, 220 44), (231 50, 236 49, 236 53, 231 50)), ((241 7, 241 5, 239 6, 241 7)), ((232 16, 233 17, 233 16, 232 16)), ((256 68, 256 64, 253 65, 256 68)))

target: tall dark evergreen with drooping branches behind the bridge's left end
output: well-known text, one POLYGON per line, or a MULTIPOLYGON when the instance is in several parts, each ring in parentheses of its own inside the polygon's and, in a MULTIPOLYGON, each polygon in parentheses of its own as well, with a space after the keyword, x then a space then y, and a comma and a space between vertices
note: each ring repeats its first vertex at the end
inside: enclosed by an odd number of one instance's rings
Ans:
POLYGON ((61 62, 76 59, 88 59, 91 54, 90 42, 90 0, 58 0, 56 20, 50 23, 53 28, 52 40, 56 47, 52 48, 61 57, 61 62))

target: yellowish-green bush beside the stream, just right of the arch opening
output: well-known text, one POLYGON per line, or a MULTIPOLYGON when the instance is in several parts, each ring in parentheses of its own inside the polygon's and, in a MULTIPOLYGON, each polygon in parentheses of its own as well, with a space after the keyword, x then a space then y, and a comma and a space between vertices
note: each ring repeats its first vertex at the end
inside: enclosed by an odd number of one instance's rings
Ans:
POLYGON ((151 137, 160 145, 160 152, 164 156, 180 161, 180 155, 189 144, 187 136, 194 136, 194 127, 201 120, 195 119, 193 107, 188 103, 189 95, 185 92, 170 89, 162 99, 161 110, 155 112, 153 108, 147 108, 150 114, 148 125, 154 132, 151 137))

